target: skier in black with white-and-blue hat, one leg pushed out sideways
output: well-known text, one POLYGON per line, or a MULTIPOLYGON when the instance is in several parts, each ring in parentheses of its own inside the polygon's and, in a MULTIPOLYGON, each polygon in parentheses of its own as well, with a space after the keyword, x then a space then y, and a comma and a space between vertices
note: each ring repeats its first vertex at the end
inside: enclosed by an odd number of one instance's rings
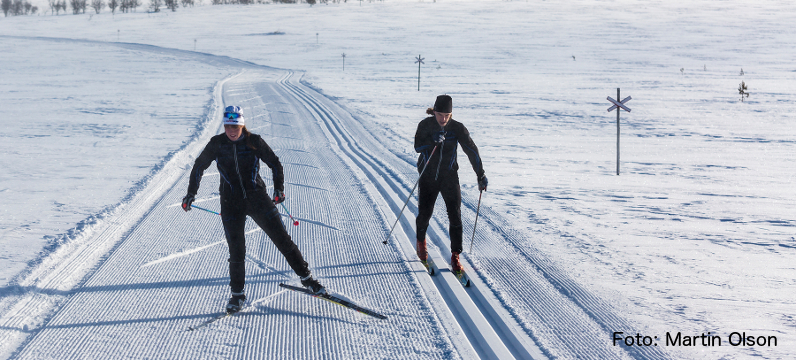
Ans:
POLYGON ((305 287, 316 294, 326 293, 324 287, 312 278, 307 262, 285 230, 279 211, 274 205, 285 201, 282 164, 262 137, 246 129, 244 121, 240 107, 228 106, 225 109, 224 134, 211 138, 196 158, 191 170, 188 194, 182 200, 183 210, 191 210, 202 173, 215 160, 221 174, 221 219, 229 245, 229 285, 232 298, 227 304, 227 312, 230 313, 240 310, 246 301, 243 290, 246 276, 246 215, 271 238, 293 271, 301 277, 301 283, 305 287), (268 197, 265 183, 259 174, 260 161, 271 168, 274 176, 273 201, 268 197))

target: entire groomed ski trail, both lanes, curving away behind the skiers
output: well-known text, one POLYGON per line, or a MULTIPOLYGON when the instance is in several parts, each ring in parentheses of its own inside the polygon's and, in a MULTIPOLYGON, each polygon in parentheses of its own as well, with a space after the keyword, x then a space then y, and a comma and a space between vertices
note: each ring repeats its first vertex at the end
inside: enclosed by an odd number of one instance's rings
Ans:
MULTIPOLYGON (((34 358, 667 358, 656 348, 611 346, 613 331, 635 327, 535 252, 482 205, 475 255, 464 256, 473 285, 447 269, 444 208, 429 238, 437 275, 414 255, 410 201, 390 244, 382 240, 416 180, 401 159, 330 99, 290 71, 147 45, 243 68, 216 87, 200 137, 175 155, 131 202, 63 246, 0 299, 0 357, 34 358), (223 89, 223 91, 222 91, 223 89), (297 277, 256 225, 247 223, 250 310, 196 332, 228 297, 220 219, 183 213, 186 166, 220 126, 223 105, 240 105, 286 174, 285 205, 300 225, 288 231, 332 291, 388 320, 364 318, 307 296, 282 293, 297 277), (481 226, 484 224, 484 226, 481 226), (411 240, 410 240, 411 239, 411 240), (221 245, 221 246, 218 246, 221 245), (267 299, 267 300, 266 300, 267 299), (367 351, 363 351, 367 349, 367 351)), ((270 185, 270 171, 263 167, 270 185)), ((205 176, 198 197, 218 196, 205 176)), ((270 189, 270 188, 269 188, 270 189)), ((217 210, 214 201, 204 206, 217 210), (215 206, 215 207, 214 207, 215 206)), ((472 197, 464 199, 465 233, 472 197)), ((438 206, 442 206, 438 204, 438 206)), ((281 209, 280 209, 281 210, 281 209)))

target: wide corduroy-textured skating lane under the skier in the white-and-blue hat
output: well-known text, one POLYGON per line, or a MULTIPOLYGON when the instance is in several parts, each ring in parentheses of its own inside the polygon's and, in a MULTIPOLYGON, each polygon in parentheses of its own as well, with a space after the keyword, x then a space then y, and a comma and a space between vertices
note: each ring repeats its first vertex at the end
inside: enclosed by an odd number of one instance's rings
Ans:
MULTIPOLYGON (((248 223, 251 310, 185 331, 220 315, 229 296, 219 217, 184 213, 175 206, 187 188, 192 161, 186 157, 179 164, 179 179, 159 192, 85 282, 63 294, 63 305, 44 324, 28 329, 29 338, 13 358, 474 357, 466 339, 443 324, 446 320, 432 305, 441 301, 429 299, 401 254, 372 241, 385 227, 378 209, 330 151, 315 120, 283 96, 276 81, 284 76, 284 71, 247 70, 224 84, 219 105, 241 105, 250 129, 280 156, 285 205, 300 221, 298 227, 288 222, 288 230, 314 274, 330 289, 390 320, 280 293, 280 282, 297 284, 298 278, 264 233, 248 223), (363 344, 368 351, 362 351, 363 344)), ((213 133, 220 132, 216 124, 213 133)), ((206 143, 198 142, 193 155, 206 143)), ((263 167, 262 175, 270 186, 270 170, 263 167)), ((198 204, 217 210, 218 180, 208 171, 198 204)))

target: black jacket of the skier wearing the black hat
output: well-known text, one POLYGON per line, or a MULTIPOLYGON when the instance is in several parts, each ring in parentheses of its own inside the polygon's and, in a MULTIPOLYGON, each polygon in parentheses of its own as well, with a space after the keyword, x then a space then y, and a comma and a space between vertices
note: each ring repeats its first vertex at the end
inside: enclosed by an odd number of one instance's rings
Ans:
MULTIPOLYGON (((443 128, 439 126, 434 116, 423 119, 423 121, 417 125, 417 132, 415 133, 415 151, 420 153, 417 159, 418 172, 423 171, 423 165, 426 164, 434 146, 438 145, 434 142, 433 136, 434 133, 440 131, 443 131, 443 128)), ((440 171, 458 171, 459 164, 456 162, 456 150, 458 149, 458 145, 461 145, 462 150, 470 159, 470 164, 473 166, 475 174, 479 179, 484 176, 484 165, 481 163, 481 156, 478 155, 478 147, 475 146, 475 142, 473 142, 473 139, 470 137, 470 132, 467 131, 464 124, 451 118, 448 124, 445 125, 444 131, 444 145, 440 145, 437 148, 428 166, 436 170, 441 154, 442 163, 440 165, 440 171)), ((435 171, 427 170, 426 172, 434 173, 435 171)))

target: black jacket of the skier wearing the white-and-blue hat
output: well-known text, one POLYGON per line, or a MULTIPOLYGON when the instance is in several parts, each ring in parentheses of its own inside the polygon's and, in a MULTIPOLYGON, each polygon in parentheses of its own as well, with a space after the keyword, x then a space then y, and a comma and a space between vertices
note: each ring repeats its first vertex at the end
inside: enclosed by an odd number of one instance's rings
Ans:
POLYGON ((194 162, 188 183, 188 194, 196 195, 202 174, 214 160, 218 173, 221 174, 219 186, 221 196, 233 195, 246 198, 246 192, 264 191, 265 182, 260 177, 260 160, 271 168, 274 188, 284 191, 285 175, 279 158, 260 135, 250 136, 254 149, 246 145, 245 136, 235 142, 226 134, 213 136, 194 162))

